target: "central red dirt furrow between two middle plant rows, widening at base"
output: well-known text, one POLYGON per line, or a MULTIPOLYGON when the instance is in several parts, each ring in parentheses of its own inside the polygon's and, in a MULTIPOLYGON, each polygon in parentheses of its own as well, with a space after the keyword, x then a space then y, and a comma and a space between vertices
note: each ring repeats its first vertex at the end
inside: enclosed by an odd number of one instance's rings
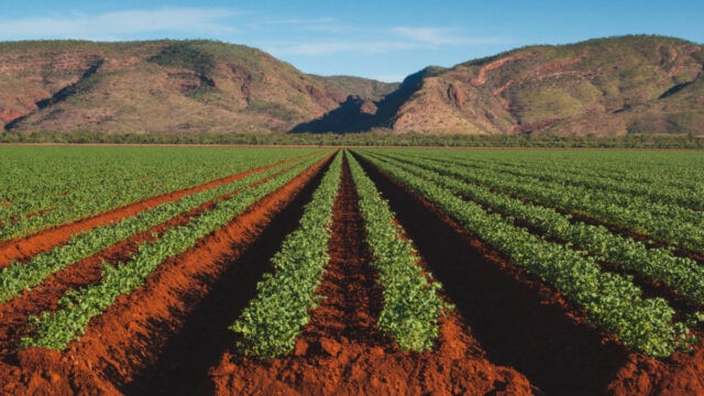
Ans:
POLYGON ((318 289, 326 298, 311 312, 294 353, 271 362, 223 354, 210 371, 215 394, 530 394, 525 377, 483 358, 457 314, 441 320, 432 352, 404 353, 381 334, 375 321, 382 290, 364 238, 345 164, 333 209, 331 258, 318 289))

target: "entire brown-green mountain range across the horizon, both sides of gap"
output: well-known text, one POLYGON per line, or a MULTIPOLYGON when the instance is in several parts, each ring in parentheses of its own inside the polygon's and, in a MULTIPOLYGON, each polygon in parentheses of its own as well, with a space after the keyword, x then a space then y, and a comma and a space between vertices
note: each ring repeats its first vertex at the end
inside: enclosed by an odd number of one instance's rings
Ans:
POLYGON ((704 134, 704 47, 661 36, 539 45, 400 85, 304 74, 211 41, 0 43, 8 131, 704 134))

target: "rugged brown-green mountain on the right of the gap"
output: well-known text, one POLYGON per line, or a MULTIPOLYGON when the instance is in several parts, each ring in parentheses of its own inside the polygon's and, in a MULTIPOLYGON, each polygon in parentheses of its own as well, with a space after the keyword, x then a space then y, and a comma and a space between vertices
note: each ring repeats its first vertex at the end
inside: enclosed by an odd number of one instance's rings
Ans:
POLYGON ((622 36, 529 46, 409 76, 377 103, 396 133, 704 133, 702 45, 622 36))

